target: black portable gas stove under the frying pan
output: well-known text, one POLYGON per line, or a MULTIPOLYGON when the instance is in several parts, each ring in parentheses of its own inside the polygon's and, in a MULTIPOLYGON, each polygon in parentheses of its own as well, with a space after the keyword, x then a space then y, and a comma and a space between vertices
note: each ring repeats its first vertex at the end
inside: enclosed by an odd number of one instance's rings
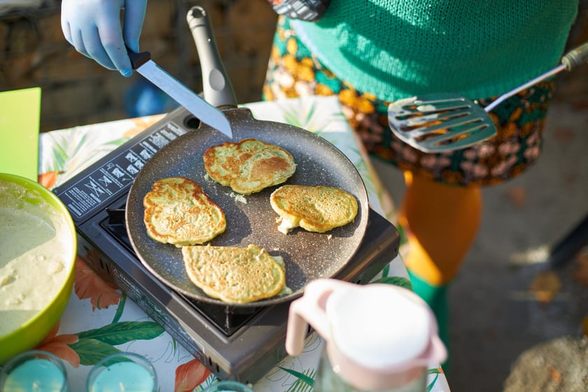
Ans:
MULTIPOLYGON (((59 188, 78 234, 78 255, 116 284, 148 316, 221 379, 254 383, 287 356, 290 302, 239 308, 197 302, 141 264, 125 226, 125 202, 135 176, 169 141, 199 125, 186 109, 169 113, 59 188)), ((337 279, 367 283, 398 254, 400 236, 370 209, 363 242, 337 279)))

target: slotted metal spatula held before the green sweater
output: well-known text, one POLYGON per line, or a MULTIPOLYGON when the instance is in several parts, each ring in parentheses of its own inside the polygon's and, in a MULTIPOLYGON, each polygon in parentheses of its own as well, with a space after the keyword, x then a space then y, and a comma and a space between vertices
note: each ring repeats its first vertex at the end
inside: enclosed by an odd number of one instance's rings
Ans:
POLYGON ((399 99, 388 106, 388 123, 400 140, 425 153, 460 150, 496 134, 496 127, 487 113, 505 99, 585 62, 588 62, 588 43, 566 53, 559 66, 501 95, 485 108, 451 92, 399 99))

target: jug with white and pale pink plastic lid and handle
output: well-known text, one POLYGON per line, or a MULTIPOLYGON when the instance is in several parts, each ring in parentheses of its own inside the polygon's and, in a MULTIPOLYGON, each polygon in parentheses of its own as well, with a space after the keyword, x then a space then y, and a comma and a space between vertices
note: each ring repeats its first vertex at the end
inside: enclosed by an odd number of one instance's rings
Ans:
POLYGON ((433 311, 390 284, 313 281, 290 305, 290 355, 302 351, 308 324, 325 339, 314 391, 423 392, 427 367, 447 358, 433 311))

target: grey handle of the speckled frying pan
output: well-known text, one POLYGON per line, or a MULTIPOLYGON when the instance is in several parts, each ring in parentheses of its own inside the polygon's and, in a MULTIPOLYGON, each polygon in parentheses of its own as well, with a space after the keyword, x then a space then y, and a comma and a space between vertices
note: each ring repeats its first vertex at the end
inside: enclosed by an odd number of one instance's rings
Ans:
POLYGON ((200 6, 194 6, 188 10, 186 20, 200 59, 204 99, 217 107, 237 107, 235 90, 218 52, 207 11, 200 6))

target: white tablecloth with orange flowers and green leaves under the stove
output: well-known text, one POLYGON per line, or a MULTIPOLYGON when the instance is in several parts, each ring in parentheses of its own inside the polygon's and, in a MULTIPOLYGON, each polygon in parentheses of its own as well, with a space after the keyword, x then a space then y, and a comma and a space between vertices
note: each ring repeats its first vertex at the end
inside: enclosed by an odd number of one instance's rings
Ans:
MULTIPOLYGON (((370 206, 388 219, 393 203, 379 183, 363 147, 351 132, 335 97, 289 99, 282 102, 246 104, 260 120, 289 123, 319 134, 335 144, 356 165, 367 188, 370 206)), ((40 136, 39 182, 55 188, 153 125, 165 115, 118 120, 46 132, 40 136)), ((400 257, 376 279, 409 286, 400 257), (392 277, 393 279, 386 279, 392 277)), ((394 311, 394 309, 388 309, 394 311)), ((402 317, 402 315, 398 315, 402 317)), ((300 356, 277 363, 258 381, 255 391, 310 391, 323 340, 308 337, 300 356)), ((180 346, 125 293, 103 281, 78 258, 76 279, 69 303, 59 324, 37 347, 64 360, 71 391, 85 391, 92 365, 116 351, 140 353, 153 363, 160 391, 200 391, 216 381, 204 365, 180 346)), ((432 365, 428 391, 449 391, 440 367, 432 365)))

